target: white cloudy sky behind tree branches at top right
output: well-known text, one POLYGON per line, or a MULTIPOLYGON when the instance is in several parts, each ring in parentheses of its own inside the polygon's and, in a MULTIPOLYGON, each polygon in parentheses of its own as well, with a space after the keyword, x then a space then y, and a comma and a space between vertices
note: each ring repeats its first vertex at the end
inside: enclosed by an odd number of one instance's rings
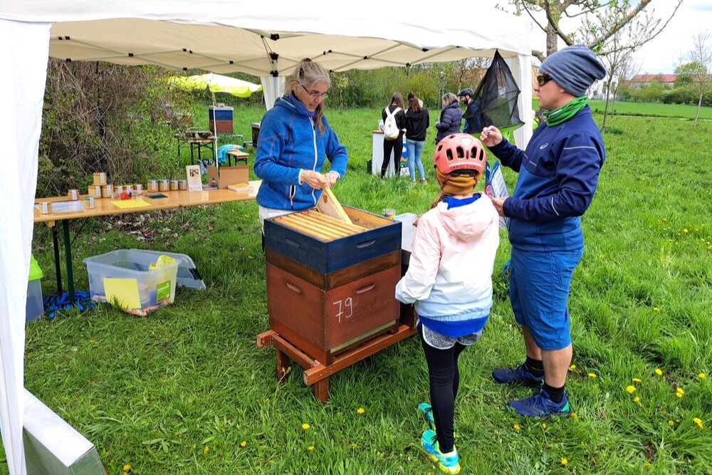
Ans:
MULTIPOLYGON (((656 18, 666 20, 674 11, 676 3, 674 0, 653 0, 645 11, 654 14, 656 18)), ((500 4, 506 6, 508 11, 512 10, 506 1, 496 0, 490 4, 500 4)), ((664 23, 664 20, 661 23, 664 23)), ((562 19, 562 30, 566 33, 574 30, 576 26, 572 21, 562 19)), ((535 49, 544 51, 545 35, 538 26, 534 28, 535 49)), ((662 33, 634 53, 634 61, 640 66, 639 73, 674 73, 676 66, 686 62, 685 56, 693 47, 697 33, 704 31, 708 31, 712 36, 712 0, 683 0, 662 33)), ((560 42, 559 48, 564 46, 565 44, 560 42)))

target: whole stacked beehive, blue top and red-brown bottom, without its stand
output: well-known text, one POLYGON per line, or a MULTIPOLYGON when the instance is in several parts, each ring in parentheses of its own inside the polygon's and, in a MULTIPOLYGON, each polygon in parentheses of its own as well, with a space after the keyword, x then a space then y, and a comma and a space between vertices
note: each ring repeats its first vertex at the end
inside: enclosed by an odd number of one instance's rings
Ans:
POLYGON ((401 224, 344 209, 352 225, 314 210, 265 221, 270 327, 325 364, 399 326, 401 224))

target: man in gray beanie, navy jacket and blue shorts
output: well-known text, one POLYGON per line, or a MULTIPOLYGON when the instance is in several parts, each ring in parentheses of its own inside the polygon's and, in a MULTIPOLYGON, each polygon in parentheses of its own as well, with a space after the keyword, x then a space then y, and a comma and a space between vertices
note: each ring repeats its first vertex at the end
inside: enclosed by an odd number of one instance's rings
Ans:
POLYGON ((583 45, 553 53, 534 85, 546 122, 525 151, 485 127, 482 142, 503 165, 519 172, 512 197, 493 198, 510 221, 512 258, 509 298, 522 328, 526 360, 492 372, 501 384, 535 387, 531 397, 508 402, 523 416, 566 416, 565 392, 571 363, 567 301, 571 276, 583 254, 581 216, 590 206, 605 160, 603 140, 588 107, 586 90, 606 75, 597 56, 583 45))

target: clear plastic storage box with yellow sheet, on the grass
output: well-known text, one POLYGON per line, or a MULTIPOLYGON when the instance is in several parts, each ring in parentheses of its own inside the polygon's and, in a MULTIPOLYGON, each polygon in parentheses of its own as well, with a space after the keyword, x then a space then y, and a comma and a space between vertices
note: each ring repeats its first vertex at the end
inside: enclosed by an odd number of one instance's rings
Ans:
MULTIPOLYGON (((164 253, 162 253, 164 254, 164 253)), ((119 249, 84 259, 89 272, 89 293, 96 301, 119 301, 129 313, 146 315, 173 303, 178 262, 149 271, 156 254, 119 249)))

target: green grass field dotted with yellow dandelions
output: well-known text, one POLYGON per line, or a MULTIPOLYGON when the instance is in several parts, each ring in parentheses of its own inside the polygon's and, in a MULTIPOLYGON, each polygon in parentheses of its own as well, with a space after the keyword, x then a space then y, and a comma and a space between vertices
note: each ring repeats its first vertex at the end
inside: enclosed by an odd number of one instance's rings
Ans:
MULTIPOLYGON (((236 109, 236 132, 249 137, 262 113, 236 109)), ((350 153, 335 187, 343 203, 429 207, 431 176, 412 187, 367 174, 377 110, 328 118, 350 153)), ((575 417, 516 417, 504 404, 529 391, 491 381, 493 368, 523 360, 498 271, 510 251, 503 236, 491 318, 460 360, 462 473, 712 473, 711 137, 711 122, 609 120, 570 298, 575 417)), ((506 179, 512 189, 515 174, 506 179)), ((259 229, 254 202, 89 221, 74 246, 79 288, 88 290, 81 259, 121 248, 189 254, 208 288, 179 289, 148 318, 100 306, 28 324, 28 390, 96 444, 111 475, 437 473, 419 447, 428 385, 417 338, 331 377, 327 404, 298 366, 276 381, 273 348, 255 344, 268 329, 259 229)), ((33 253, 52 293, 46 226, 36 226, 33 253)))

